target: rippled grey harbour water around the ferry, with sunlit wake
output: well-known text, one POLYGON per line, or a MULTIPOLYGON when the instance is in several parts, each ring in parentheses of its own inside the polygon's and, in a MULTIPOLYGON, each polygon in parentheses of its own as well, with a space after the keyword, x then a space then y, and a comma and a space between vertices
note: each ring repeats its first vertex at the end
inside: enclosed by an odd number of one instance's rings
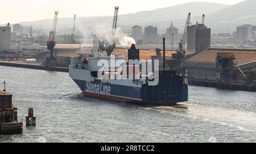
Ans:
POLYGON ((83 97, 64 72, 0 66, 3 80, 37 123, 0 142, 256 142, 255 92, 190 86, 188 102, 157 107, 83 97))

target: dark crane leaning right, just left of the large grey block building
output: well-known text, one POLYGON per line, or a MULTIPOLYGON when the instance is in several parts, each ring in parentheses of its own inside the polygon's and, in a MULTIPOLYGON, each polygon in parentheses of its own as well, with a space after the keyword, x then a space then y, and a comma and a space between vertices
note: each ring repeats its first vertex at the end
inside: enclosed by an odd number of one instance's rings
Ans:
POLYGON ((185 44, 187 43, 187 29, 191 25, 190 17, 191 17, 191 13, 188 14, 188 18, 185 23, 184 32, 183 32, 183 36, 181 37, 179 47, 177 48, 176 53, 172 54, 172 57, 177 59, 177 74, 182 73, 181 59, 185 55, 185 44))

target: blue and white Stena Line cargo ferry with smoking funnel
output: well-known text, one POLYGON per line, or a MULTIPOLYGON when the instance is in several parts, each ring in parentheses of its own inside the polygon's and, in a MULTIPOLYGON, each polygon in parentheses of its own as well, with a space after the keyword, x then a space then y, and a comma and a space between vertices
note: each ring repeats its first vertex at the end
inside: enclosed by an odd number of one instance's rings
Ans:
POLYGON ((158 53, 151 57, 151 62, 146 62, 146 66, 129 65, 128 59, 139 59, 139 50, 134 44, 128 50, 128 58, 119 56, 115 51, 111 55, 93 50, 78 54, 71 59, 69 76, 86 97, 160 105, 175 105, 188 100, 187 76, 177 72, 176 58, 166 58, 158 53), (99 76, 102 69, 102 65, 98 66, 100 61, 117 63, 120 60, 121 71, 109 66, 112 71, 104 70, 99 76), (156 60, 159 64, 154 67, 156 60), (152 71, 143 73, 142 70, 147 70, 150 65, 152 71), (158 78, 152 79, 156 73, 158 78))

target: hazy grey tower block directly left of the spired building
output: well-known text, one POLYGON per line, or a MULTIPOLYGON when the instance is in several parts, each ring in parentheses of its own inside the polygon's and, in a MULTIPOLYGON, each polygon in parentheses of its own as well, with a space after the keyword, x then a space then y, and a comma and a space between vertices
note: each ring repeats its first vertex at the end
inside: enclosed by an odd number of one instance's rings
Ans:
POLYGON ((147 43, 155 42, 158 37, 158 28, 153 27, 152 25, 149 25, 148 27, 144 28, 144 35, 145 35, 145 41, 147 43))

